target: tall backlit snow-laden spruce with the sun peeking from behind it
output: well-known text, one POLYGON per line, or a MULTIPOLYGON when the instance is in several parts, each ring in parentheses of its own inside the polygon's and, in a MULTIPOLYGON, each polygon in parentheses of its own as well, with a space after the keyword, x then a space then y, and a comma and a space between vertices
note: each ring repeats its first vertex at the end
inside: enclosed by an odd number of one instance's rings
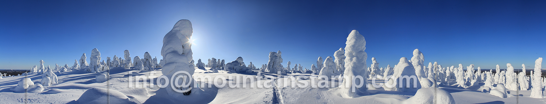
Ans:
MULTIPOLYGON (((189 42, 192 33, 192 23, 189 22, 189 20, 180 20, 176 22, 173 29, 170 30, 170 32, 163 38, 161 56, 163 56, 163 61, 165 64, 163 65, 161 72, 164 76, 171 79, 170 85, 167 85, 166 88, 159 89, 165 90, 168 95, 162 97, 162 99, 169 99, 169 101, 171 101, 164 103, 209 103, 212 101, 212 99, 207 99, 207 97, 204 97, 210 96, 209 94, 204 93, 204 90, 200 89, 199 87, 194 88, 193 82, 195 82, 195 80, 193 78, 189 78, 192 77, 195 71, 193 65, 189 64, 193 59, 192 45, 189 42), (185 71, 187 74, 178 74, 177 72, 179 71, 185 71), (175 80, 173 78, 178 78, 180 80, 177 80, 176 82, 173 81, 175 80), (173 83, 178 84, 175 86, 173 83), (189 84, 189 86, 178 86, 180 84, 189 84)), ((164 93, 157 93, 156 95, 163 94, 164 93)))

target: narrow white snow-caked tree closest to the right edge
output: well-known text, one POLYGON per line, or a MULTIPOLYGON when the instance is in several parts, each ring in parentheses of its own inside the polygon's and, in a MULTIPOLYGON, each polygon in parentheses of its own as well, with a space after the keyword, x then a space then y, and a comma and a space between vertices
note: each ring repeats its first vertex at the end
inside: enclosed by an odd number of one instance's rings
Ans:
POLYGON ((542 57, 539 57, 535 60, 535 74, 531 75, 531 97, 533 98, 544 98, 542 96, 542 57))

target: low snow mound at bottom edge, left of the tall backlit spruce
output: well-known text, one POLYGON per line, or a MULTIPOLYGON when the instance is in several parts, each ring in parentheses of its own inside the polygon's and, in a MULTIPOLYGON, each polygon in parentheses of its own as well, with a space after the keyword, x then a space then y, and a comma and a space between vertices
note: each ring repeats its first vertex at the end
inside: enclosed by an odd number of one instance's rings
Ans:
MULTIPOLYGON (((117 90, 104 89, 93 87, 88 89, 81 94, 80 98, 77 100, 80 104, 94 104, 94 103, 136 103, 130 101, 127 95, 121 93, 117 90)), ((140 103, 140 102, 139 102, 140 103)))

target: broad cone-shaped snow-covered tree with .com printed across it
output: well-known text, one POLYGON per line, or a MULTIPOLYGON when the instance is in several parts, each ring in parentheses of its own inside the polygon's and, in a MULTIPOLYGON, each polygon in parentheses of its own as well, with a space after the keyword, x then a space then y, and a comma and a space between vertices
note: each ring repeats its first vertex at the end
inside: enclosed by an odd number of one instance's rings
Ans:
POLYGON ((394 74, 388 82, 384 84, 385 90, 401 91, 406 93, 415 93, 421 88, 421 83, 416 77, 413 65, 408 62, 406 57, 400 58, 400 62, 394 67, 394 74), (402 81, 400 81, 402 80, 402 81), (390 88, 389 85, 393 88, 390 88))

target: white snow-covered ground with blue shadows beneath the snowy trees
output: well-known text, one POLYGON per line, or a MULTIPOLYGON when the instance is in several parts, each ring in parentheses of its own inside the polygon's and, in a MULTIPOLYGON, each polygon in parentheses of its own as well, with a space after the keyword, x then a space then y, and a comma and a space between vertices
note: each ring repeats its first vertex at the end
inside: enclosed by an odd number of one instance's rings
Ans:
MULTIPOLYGON (((210 96, 208 99, 213 99, 210 103, 403 103, 403 101, 412 97, 416 93, 402 93, 400 91, 385 91, 381 88, 369 88, 369 95, 356 97, 352 99, 343 98, 338 94, 335 88, 312 88, 308 87, 294 87, 290 85, 292 82, 299 84, 296 81, 290 81, 290 76, 311 76, 311 74, 265 74, 265 73, 232 73, 228 71, 219 70, 218 73, 212 73, 210 68, 206 70, 195 68, 194 78, 197 76, 211 76, 215 78, 217 76, 224 76, 225 81, 217 79, 216 82, 212 79, 199 79, 196 80, 200 83, 218 83, 216 87, 223 82, 228 82, 221 88, 210 88, 217 91, 217 95, 210 96), (229 78, 232 76, 233 78, 229 78), (235 77, 239 76, 237 79, 235 77), (252 77, 242 81, 242 77, 252 77), (265 78, 264 78, 265 77, 265 78), (273 78, 270 78, 273 77, 273 78), (271 82, 274 82, 273 84, 271 82), (230 87, 229 85, 235 85, 239 83, 238 87, 230 87), (265 83, 265 84, 264 84, 265 83), (285 83, 285 84, 280 84, 285 83), (256 85, 254 88, 250 88, 250 85, 256 85), (271 85, 272 84, 272 85, 271 85), (246 88, 241 88, 246 85, 246 88), (258 87, 262 85, 263 87, 258 87)), ((106 72, 110 73, 110 79, 107 82, 96 82, 95 76, 100 73, 87 73, 84 71, 69 71, 69 72, 55 72, 58 77, 58 84, 51 85, 41 93, 13 93, 10 90, 11 87, 17 85, 17 82, 22 78, 31 78, 34 83, 41 81, 41 75, 30 74, 27 76, 14 76, 4 77, 0 79, 0 103, 76 103, 80 96, 87 90, 93 87, 105 88, 120 91, 124 95, 134 98, 134 100, 146 103, 151 96, 156 95, 156 88, 150 88, 150 80, 155 80, 161 76, 161 71, 135 71, 134 69, 123 68, 111 68, 106 72), (141 74, 140 76, 151 77, 144 83, 147 88, 129 87, 129 76, 132 72, 141 74), (152 75, 153 73, 153 75, 152 75)), ((313 78, 304 78, 300 81, 306 81, 308 83, 318 83, 319 80, 313 78)), ((134 80, 132 80, 134 81, 134 80)), ((329 79, 328 83, 339 84, 341 81, 337 79, 329 79)), ((371 79, 368 80, 372 82, 371 79)), ((383 83, 384 80, 377 80, 377 83, 383 83)), ((448 81, 450 84, 455 82, 448 81)), ((507 98, 497 97, 483 91, 484 83, 479 83, 478 86, 469 88, 457 88, 453 86, 439 87, 448 91, 455 100, 456 103, 545 103, 546 99, 531 98, 530 90, 507 90, 507 98)), ((496 86, 496 84, 494 85, 496 86)), ((337 87, 337 85, 334 85, 337 87)), ((442 102, 442 101, 438 101, 442 102)), ((206 103, 206 102, 205 102, 206 103)))

